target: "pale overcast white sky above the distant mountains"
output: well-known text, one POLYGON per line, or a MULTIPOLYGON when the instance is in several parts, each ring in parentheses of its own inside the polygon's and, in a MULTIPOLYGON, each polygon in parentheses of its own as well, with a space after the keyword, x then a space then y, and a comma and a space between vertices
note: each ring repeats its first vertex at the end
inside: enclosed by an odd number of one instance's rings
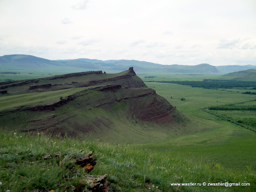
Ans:
POLYGON ((256 65, 256 0, 0 0, 0 56, 256 65))

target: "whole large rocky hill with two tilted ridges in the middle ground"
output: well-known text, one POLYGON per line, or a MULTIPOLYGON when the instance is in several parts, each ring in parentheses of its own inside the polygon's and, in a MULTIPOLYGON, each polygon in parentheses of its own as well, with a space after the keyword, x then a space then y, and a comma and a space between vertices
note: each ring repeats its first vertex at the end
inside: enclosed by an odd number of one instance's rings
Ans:
POLYGON ((148 88, 133 68, 2 82, 0 90, 5 130, 87 134, 132 143, 205 129, 148 88))

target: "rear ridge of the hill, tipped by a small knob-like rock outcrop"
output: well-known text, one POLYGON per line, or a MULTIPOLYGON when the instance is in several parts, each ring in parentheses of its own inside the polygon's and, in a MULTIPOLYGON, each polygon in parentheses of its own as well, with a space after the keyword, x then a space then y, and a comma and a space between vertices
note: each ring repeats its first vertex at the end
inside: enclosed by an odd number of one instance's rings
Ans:
POLYGON ((0 83, 0 89, 5 89, 10 94, 25 94, 37 91, 47 92, 106 84, 119 84, 122 87, 133 88, 146 87, 144 82, 136 76, 133 68, 130 68, 126 72, 119 74, 106 74, 102 73, 102 71, 90 71, 32 80, 3 82, 0 83))

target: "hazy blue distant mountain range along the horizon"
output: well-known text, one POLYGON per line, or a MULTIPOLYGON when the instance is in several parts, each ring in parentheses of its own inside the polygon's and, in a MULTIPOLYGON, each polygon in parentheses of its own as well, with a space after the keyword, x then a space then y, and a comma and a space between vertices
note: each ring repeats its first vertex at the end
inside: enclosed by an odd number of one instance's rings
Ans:
POLYGON ((163 72, 179 74, 216 74, 230 73, 247 69, 256 69, 253 65, 212 66, 209 64, 191 65, 161 65, 137 60, 97 60, 78 58, 73 60, 48 60, 31 55, 0 56, 0 70, 49 70, 49 71, 92 71, 102 70, 116 73, 134 67, 136 72, 163 72))

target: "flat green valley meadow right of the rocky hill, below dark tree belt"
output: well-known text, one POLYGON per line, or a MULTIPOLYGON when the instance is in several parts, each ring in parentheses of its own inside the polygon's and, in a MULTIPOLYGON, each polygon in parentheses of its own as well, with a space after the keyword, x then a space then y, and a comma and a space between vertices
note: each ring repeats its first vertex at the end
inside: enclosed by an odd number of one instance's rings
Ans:
MULTIPOLYGON (((170 150, 186 157, 200 160, 208 157, 225 168, 245 170, 247 166, 256 169, 254 159, 256 134, 250 130, 228 121, 222 116, 230 116, 234 120, 253 118, 255 111, 218 111, 207 113, 204 108, 227 104, 254 105, 256 96, 237 92, 193 88, 170 83, 145 82, 148 87, 168 100, 178 110, 189 116, 216 122, 218 126, 198 134, 177 136, 170 141, 148 144, 152 149, 170 150), (185 98, 185 100, 181 100, 185 98), (251 102, 250 102, 251 101, 251 102), (241 104, 244 103, 244 104, 241 104), (221 114, 222 116, 219 116, 221 114)), ((206 125, 207 126, 207 125, 206 125)), ((255 128, 255 125, 254 125, 255 128)))

